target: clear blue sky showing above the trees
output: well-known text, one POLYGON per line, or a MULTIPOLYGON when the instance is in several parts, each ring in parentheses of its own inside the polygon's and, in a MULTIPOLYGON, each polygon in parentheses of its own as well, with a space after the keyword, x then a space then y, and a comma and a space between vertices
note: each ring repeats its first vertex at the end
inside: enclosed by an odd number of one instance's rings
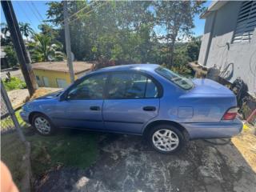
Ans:
MULTIPOLYGON (((14 6, 14 12, 18 22, 28 22, 30 26, 38 32, 38 25, 42 23, 42 20, 46 19, 46 11, 48 6, 47 1, 12 1, 14 6)), ((205 6, 209 6, 211 1, 207 1, 205 6)), ((6 22, 1 6, 1 22, 6 22)), ((200 19, 199 15, 194 17, 193 29, 194 35, 199 36, 203 34, 205 20, 200 19)))

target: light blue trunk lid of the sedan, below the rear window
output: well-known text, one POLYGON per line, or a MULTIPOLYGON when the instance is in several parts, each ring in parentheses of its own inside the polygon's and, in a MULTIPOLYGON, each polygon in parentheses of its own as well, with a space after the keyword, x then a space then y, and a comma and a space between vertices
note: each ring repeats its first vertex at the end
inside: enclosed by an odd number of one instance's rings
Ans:
POLYGON ((194 82, 194 89, 191 90, 193 94, 226 94, 234 96, 234 93, 226 86, 222 86, 208 78, 195 78, 192 81, 194 82))

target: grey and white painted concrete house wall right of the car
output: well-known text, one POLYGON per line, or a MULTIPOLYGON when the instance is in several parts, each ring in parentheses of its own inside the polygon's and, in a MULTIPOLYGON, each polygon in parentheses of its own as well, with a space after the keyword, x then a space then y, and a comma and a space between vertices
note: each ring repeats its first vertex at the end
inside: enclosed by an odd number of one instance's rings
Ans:
POLYGON ((230 82, 241 77, 248 85, 250 93, 256 93, 256 30, 250 42, 231 43, 237 23, 241 2, 227 2, 216 12, 215 22, 211 30, 208 22, 213 22, 212 14, 206 18, 205 34, 198 62, 204 64, 206 45, 210 42, 206 66, 218 66, 221 70, 228 66, 222 77, 230 82), (210 31, 210 32, 209 32, 210 31), (209 36, 211 33, 211 41, 209 36), (228 44, 228 45, 227 45, 228 44))

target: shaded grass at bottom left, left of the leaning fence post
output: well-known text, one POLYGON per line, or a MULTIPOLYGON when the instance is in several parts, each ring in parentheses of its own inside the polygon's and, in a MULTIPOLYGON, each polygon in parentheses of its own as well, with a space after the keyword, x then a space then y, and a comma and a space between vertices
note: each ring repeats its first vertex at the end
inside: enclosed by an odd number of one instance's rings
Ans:
POLYGON ((26 147, 18 138, 18 134, 5 134, 1 137, 1 160, 9 167, 14 182, 21 188, 21 179, 24 173, 22 170, 22 156, 26 147))

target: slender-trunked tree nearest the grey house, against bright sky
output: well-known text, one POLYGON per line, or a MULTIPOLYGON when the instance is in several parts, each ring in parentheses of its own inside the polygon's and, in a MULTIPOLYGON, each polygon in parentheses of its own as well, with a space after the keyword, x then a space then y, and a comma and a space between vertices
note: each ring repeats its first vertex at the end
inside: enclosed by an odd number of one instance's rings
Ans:
POLYGON ((156 21, 164 29, 162 40, 168 48, 167 64, 174 62, 174 45, 177 40, 189 38, 194 27, 193 18, 203 10, 199 1, 157 1, 155 2, 156 21))

